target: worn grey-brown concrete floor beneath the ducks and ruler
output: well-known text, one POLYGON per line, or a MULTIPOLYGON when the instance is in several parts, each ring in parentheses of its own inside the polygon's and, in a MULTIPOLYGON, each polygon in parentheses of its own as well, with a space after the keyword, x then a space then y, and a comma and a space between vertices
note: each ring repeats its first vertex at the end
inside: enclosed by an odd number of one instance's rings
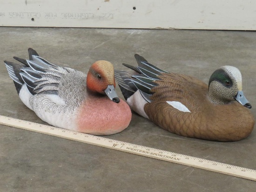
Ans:
MULTIPOLYGON (((219 66, 241 70, 256 116, 256 32, 0 27, 0 115, 44 123, 22 104, 3 60, 27 48, 87 72, 96 60, 116 69, 139 53, 160 68, 206 83, 219 66)), ((117 88, 121 95, 121 91, 117 88)), ((122 97, 121 97, 122 98, 122 97)), ((256 131, 238 142, 178 136, 133 113, 110 139, 256 169, 256 131)), ((0 125, 0 192, 255 192, 256 182, 0 125)))

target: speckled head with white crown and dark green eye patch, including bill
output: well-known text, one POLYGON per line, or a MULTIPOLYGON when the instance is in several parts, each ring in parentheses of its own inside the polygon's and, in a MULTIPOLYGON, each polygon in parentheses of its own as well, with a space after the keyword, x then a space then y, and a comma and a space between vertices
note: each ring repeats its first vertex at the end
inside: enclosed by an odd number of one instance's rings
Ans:
POLYGON ((236 100, 243 106, 251 108, 249 101, 243 95, 242 75, 234 66, 222 66, 211 75, 209 100, 215 104, 228 104, 236 100))

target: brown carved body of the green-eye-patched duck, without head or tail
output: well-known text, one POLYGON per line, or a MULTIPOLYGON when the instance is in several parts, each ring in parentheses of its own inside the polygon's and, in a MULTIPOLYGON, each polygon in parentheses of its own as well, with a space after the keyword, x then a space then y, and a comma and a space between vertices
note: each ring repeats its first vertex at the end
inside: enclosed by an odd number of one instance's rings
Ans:
POLYGON ((202 81, 176 73, 162 73, 158 86, 151 89, 151 103, 144 106, 148 118, 178 135, 217 141, 237 141, 249 136, 254 117, 249 109, 233 101, 212 104, 208 86, 202 81), (166 101, 179 101, 189 112, 181 112, 166 101))

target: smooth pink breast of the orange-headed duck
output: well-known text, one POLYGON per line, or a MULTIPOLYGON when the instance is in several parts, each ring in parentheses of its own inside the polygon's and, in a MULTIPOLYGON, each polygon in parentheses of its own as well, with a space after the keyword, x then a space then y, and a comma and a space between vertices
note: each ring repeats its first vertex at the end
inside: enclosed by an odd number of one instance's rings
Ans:
POLYGON ((77 131, 94 135, 114 134, 128 127, 131 116, 129 106, 121 99, 115 103, 106 96, 90 98, 79 110, 77 131))

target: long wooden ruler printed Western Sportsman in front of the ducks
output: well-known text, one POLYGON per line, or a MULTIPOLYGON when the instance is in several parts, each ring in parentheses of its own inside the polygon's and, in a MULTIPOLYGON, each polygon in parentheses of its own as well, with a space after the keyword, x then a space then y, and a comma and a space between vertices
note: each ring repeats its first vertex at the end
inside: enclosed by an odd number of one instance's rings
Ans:
POLYGON ((256 181, 256 170, 0 115, 0 124, 256 181))

